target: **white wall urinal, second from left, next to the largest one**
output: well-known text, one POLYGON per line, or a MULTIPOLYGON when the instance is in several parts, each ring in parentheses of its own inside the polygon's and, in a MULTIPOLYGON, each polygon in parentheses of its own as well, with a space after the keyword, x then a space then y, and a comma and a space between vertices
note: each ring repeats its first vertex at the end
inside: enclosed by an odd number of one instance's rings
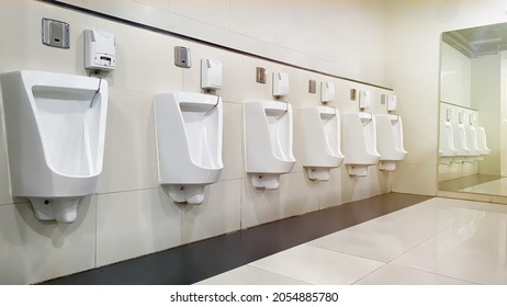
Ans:
POLYGON ((154 98, 160 184, 174 203, 199 205, 204 186, 218 181, 223 105, 216 95, 159 93, 154 98))

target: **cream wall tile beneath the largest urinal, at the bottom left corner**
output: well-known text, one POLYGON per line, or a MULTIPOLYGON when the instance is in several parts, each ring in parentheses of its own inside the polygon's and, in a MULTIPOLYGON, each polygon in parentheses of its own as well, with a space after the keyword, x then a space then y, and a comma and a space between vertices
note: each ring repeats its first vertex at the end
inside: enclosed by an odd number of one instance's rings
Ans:
POLYGON ((95 197, 70 225, 41 223, 29 203, 0 206, 0 284, 31 284, 94 266, 95 197))

